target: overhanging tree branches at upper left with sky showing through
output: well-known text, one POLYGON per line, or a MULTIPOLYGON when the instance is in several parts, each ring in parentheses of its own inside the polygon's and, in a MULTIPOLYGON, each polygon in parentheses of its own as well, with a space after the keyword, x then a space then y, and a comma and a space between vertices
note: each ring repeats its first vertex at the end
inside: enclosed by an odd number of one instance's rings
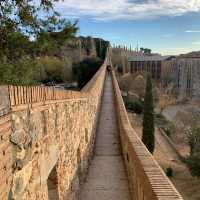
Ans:
MULTIPOLYGON (((54 10, 56 1, 0 0, 0 56, 6 55, 9 60, 15 60, 18 58, 15 52, 22 52, 19 44, 22 45, 21 49, 24 51, 27 49, 30 51, 34 46, 29 41, 29 37, 38 39, 44 35, 48 40, 43 42, 45 44, 41 42, 42 45, 55 49, 55 46, 63 44, 66 38, 76 33, 77 22, 71 24, 62 19, 54 10), (56 41, 56 45, 52 44, 52 40, 56 41), (14 57, 15 55, 16 57, 14 57)), ((40 40, 38 41, 40 44, 40 40)), ((43 47, 43 49, 45 48, 43 47)))

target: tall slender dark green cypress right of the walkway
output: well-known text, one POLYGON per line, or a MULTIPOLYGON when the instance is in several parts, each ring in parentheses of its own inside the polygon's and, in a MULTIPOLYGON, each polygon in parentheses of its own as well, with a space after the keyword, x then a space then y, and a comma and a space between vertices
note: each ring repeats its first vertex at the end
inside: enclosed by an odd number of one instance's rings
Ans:
POLYGON ((151 77, 147 75, 145 99, 144 99, 144 116, 143 116, 143 135, 142 141, 146 145, 147 149, 153 153, 155 147, 154 136, 154 103, 152 92, 151 77))

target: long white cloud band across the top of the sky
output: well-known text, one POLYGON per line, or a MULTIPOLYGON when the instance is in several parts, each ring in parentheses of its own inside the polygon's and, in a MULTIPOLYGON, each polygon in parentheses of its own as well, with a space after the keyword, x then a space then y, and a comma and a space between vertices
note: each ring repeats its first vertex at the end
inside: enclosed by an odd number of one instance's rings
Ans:
POLYGON ((96 20, 149 19, 200 11, 200 0, 64 0, 57 3, 64 16, 96 20))

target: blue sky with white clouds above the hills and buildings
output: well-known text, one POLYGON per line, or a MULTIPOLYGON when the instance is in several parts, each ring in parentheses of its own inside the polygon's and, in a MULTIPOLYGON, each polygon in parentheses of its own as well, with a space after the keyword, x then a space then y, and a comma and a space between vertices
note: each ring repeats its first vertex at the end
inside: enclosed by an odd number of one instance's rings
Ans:
POLYGON ((200 0, 63 0, 61 16, 79 21, 78 35, 163 55, 200 51, 200 0))

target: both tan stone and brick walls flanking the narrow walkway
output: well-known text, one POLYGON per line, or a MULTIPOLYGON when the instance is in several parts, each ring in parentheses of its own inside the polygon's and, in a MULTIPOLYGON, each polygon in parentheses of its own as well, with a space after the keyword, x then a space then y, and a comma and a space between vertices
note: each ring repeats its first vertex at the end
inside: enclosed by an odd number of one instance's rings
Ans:
MULTIPOLYGON (((75 200, 92 158, 107 58, 81 92, 0 88, 0 199, 75 200)), ((183 200, 132 129, 112 71, 133 200, 183 200)))

